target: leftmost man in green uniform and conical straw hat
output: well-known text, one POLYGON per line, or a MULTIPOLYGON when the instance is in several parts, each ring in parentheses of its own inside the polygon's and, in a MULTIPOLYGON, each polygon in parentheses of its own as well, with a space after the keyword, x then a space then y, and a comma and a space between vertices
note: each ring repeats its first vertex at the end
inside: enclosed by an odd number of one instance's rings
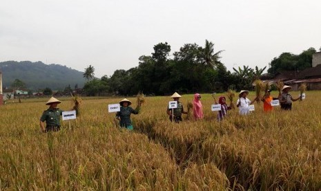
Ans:
POLYGON ((46 105, 50 105, 50 107, 46 111, 43 111, 40 118, 40 127, 43 132, 60 130, 60 116, 62 111, 57 108, 59 103, 61 103, 61 101, 54 97, 51 97, 48 102, 46 102, 46 105), (44 127, 44 121, 46 121, 46 129, 44 127))

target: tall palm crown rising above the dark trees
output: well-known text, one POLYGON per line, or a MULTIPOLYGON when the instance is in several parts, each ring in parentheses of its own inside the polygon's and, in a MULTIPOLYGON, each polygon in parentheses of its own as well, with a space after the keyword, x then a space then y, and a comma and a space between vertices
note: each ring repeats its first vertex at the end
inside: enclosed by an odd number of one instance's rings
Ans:
POLYGON ((202 49, 202 59, 204 60, 203 64, 214 68, 216 64, 220 62, 220 53, 222 53, 222 51, 214 53, 213 42, 208 42, 208 40, 206 39, 205 48, 202 49))

